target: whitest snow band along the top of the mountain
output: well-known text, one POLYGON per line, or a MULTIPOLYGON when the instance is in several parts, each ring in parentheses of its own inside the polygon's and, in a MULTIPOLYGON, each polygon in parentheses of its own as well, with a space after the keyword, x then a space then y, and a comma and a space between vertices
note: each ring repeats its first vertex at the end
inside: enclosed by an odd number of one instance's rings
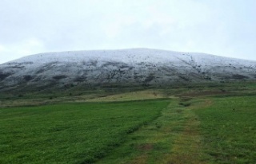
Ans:
MULTIPOLYGON (((228 57, 218 57, 204 53, 179 53, 173 51, 164 51, 158 49, 122 49, 122 50, 95 50, 95 51, 74 51, 59 53, 39 53, 28 57, 22 57, 12 62, 30 62, 44 64, 50 62, 80 62, 87 59, 97 59, 98 61, 120 61, 127 63, 137 62, 166 62, 186 60, 195 58, 198 62, 208 62, 209 64, 218 64, 218 62, 231 62, 232 64, 247 64, 246 60, 239 60, 228 57)), ((9 63, 12 63, 9 62, 9 63)), ((252 61, 252 64, 255 62, 252 61)))

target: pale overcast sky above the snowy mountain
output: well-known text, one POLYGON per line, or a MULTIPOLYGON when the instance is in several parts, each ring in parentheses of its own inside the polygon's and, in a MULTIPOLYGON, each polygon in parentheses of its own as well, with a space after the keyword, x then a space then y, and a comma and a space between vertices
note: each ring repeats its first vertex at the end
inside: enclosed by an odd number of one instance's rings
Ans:
POLYGON ((130 48, 256 60, 256 1, 0 0, 0 63, 130 48))

